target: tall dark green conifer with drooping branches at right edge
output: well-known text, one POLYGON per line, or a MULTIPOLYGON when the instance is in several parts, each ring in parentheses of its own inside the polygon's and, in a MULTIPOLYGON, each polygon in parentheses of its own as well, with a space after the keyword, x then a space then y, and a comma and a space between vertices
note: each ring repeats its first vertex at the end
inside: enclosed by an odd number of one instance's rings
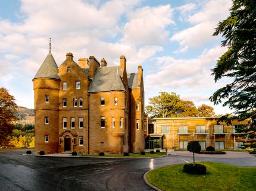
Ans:
POLYGON ((218 89, 210 100, 229 106, 233 113, 220 118, 231 124, 232 119, 249 119, 243 127, 246 147, 256 148, 256 1, 233 0, 229 17, 218 23, 213 35, 221 34, 221 46, 227 51, 213 68, 215 81, 230 78, 232 82, 218 89))

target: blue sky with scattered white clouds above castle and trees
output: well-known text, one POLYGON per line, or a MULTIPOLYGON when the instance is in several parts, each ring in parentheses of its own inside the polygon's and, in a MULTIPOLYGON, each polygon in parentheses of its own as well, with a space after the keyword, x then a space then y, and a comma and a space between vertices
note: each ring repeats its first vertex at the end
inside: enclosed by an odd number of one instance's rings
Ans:
POLYGON ((215 83, 211 76, 226 51, 221 37, 212 34, 232 1, 0 2, 0 87, 8 88, 19 106, 33 108, 32 79, 48 53, 49 37, 58 65, 67 52, 76 61, 105 58, 108 66, 119 65, 125 55, 129 72, 142 65, 146 103, 167 91, 196 106, 213 106, 208 98, 227 83, 215 83))

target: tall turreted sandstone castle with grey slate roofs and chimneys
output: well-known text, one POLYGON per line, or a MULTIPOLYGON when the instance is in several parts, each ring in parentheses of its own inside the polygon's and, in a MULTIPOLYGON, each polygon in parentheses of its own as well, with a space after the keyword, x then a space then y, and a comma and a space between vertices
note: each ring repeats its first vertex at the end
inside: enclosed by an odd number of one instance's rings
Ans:
POLYGON ((33 78, 35 151, 121 154, 144 149, 143 69, 127 74, 94 56, 73 61, 67 53, 58 67, 51 50, 33 78))

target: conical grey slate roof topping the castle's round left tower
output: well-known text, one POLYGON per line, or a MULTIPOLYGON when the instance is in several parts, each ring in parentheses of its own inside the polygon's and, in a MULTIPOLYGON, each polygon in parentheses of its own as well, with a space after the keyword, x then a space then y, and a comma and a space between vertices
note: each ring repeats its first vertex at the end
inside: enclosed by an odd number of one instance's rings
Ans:
POLYGON ((46 56, 45 61, 43 61, 42 65, 40 66, 38 72, 36 73, 33 79, 36 78, 60 79, 58 75, 58 66, 54 60, 54 57, 52 56, 51 50, 49 50, 49 53, 46 56))

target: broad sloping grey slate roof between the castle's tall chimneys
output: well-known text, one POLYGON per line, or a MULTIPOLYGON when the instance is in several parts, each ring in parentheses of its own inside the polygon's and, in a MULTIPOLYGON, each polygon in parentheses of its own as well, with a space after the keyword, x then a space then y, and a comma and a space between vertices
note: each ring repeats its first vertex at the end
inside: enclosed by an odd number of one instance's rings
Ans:
POLYGON ((124 85, 120 77, 120 67, 98 67, 90 84, 89 92, 123 90, 124 85))

